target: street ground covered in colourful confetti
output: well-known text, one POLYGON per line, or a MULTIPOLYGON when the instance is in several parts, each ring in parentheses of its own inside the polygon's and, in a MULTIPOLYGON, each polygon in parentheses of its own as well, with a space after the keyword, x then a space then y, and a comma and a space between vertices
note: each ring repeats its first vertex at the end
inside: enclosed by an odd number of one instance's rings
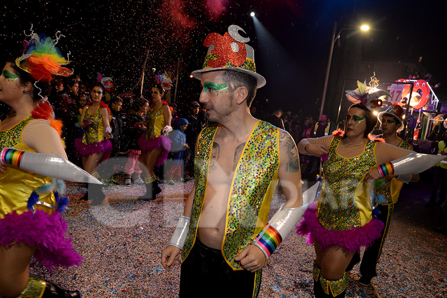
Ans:
MULTIPOLYGON (((163 184, 163 198, 141 202, 142 185, 111 185, 107 202, 90 207, 78 198, 81 184, 68 183, 70 210, 64 218, 73 243, 84 257, 81 267, 50 274, 32 261, 30 272, 81 291, 83 298, 177 297, 180 266, 170 272, 160 264, 193 181, 163 184)), ((433 231, 440 210, 427 209, 430 183, 402 190, 372 286, 357 284, 359 265, 349 274, 347 298, 447 297, 447 237, 433 231), (403 199, 402 199, 403 198, 403 199)), ((304 189, 307 183, 304 184, 304 189)), ((285 198, 277 190, 270 216, 285 198)), ((264 267, 259 297, 312 297, 313 247, 291 233, 264 267)))

